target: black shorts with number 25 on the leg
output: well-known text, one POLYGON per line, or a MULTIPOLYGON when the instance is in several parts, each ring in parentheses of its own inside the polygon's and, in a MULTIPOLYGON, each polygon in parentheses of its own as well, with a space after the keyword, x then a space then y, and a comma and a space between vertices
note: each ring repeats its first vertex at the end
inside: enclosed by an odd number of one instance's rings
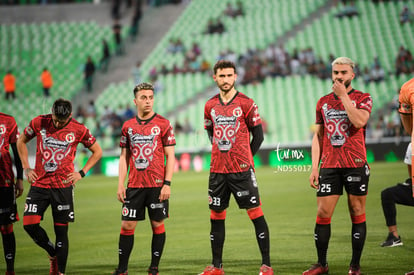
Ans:
POLYGON ((368 164, 359 168, 321 168, 317 196, 342 195, 344 187, 350 195, 365 196, 369 174, 368 164))

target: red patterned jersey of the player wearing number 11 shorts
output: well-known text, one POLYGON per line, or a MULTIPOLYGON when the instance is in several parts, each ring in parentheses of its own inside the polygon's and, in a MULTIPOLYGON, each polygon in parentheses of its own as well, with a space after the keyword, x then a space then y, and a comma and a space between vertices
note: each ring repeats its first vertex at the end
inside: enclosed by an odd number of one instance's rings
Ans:
POLYGON ((164 183, 164 147, 175 145, 170 122, 154 114, 148 120, 138 117, 122 126, 121 148, 130 151, 128 188, 160 187, 164 183))

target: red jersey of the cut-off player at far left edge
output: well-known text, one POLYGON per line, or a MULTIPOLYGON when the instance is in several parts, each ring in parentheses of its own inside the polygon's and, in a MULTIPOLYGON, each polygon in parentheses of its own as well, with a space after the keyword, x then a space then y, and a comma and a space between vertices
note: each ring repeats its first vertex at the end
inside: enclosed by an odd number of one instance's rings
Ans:
POLYGON ((0 187, 14 184, 10 144, 16 143, 18 137, 19 130, 14 118, 0 113, 0 187))

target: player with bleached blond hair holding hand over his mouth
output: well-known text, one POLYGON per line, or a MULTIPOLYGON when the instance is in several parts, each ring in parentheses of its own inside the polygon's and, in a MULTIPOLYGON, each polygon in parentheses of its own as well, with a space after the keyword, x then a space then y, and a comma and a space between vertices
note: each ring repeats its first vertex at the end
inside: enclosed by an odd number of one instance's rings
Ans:
POLYGON ((368 93, 352 88, 354 66, 355 63, 347 57, 332 62, 332 92, 321 97, 316 105, 309 181, 311 187, 317 189, 315 244, 318 263, 304 271, 304 275, 328 273, 326 254, 331 217, 344 187, 352 221, 352 260, 348 274, 361 274, 359 262, 366 236, 365 202, 370 174, 365 127, 372 98, 368 93))

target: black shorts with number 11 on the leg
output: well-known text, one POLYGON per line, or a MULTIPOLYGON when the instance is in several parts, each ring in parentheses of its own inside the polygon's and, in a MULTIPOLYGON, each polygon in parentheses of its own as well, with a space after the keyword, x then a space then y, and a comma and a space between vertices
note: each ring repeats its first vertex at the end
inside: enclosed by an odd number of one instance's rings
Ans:
POLYGON ((161 187, 127 188, 122 205, 123 221, 145 220, 145 208, 150 220, 162 221, 168 218, 168 200, 160 202, 161 187))

